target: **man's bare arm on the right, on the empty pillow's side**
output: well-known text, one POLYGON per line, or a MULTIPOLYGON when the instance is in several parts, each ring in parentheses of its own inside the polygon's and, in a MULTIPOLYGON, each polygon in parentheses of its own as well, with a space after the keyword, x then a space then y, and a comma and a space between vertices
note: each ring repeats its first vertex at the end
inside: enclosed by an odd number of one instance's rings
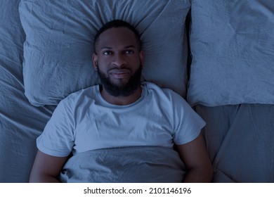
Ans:
POLYGON ((211 182, 213 168, 202 134, 187 144, 177 145, 177 148, 188 169, 183 182, 211 182))

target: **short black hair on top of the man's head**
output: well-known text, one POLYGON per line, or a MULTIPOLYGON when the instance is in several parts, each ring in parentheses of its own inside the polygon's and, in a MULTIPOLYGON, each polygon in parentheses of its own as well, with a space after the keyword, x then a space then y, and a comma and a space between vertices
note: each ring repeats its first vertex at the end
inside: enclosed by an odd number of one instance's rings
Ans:
POLYGON ((129 30, 131 30, 135 34, 137 44, 139 45, 139 50, 142 49, 141 35, 136 30, 136 28, 133 27, 133 25, 131 25, 130 23, 127 23, 124 20, 111 20, 110 22, 107 22, 102 27, 100 27, 100 30, 98 30, 98 32, 96 33, 96 36, 94 37, 94 49, 95 50, 96 50, 96 45, 98 43, 98 39, 100 37, 100 34, 102 34, 106 30, 109 30, 113 27, 126 27, 129 30))

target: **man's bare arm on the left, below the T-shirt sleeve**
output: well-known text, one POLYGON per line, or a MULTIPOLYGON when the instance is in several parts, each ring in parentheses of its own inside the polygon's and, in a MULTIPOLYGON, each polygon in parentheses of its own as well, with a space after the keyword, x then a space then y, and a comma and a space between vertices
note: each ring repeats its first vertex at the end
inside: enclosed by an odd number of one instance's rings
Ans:
POLYGON ((30 182, 59 182, 58 175, 66 161, 67 157, 54 157, 38 151, 30 173, 30 182))

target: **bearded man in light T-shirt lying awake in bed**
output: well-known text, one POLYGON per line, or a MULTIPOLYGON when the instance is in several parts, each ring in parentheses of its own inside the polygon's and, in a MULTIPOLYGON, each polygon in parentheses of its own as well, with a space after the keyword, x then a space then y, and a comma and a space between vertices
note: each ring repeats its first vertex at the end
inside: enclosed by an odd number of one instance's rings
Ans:
POLYGON ((71 153, 131 146, 172 149, 174 144, 187 168, 182 181, 211 182, 200 134, 205 123, 174 91, 141 82, 144 55, 134 27, 122 20, 106 23, 95 49, 93 65, 101 84, 60 102, 37 139, 30 182, 59 182, 71 153))

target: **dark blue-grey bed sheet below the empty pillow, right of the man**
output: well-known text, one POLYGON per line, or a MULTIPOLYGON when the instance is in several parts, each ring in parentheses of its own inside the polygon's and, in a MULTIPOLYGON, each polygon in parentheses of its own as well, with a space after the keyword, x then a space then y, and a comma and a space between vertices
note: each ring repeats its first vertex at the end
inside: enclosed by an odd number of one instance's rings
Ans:
POLYGON ((274 182, 274 105, 196 106, 214 182, 274 182))

